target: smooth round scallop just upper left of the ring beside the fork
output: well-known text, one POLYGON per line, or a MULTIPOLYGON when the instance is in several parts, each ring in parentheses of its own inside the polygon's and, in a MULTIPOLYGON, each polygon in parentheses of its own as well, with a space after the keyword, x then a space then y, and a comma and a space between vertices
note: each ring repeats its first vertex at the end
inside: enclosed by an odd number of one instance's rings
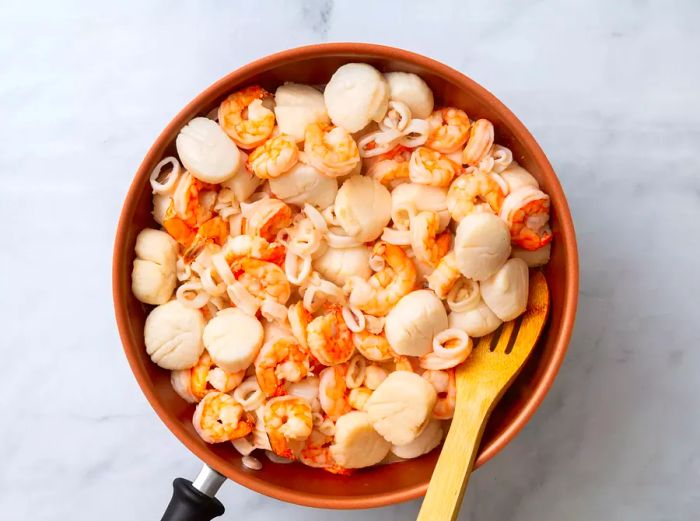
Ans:
POLYGON ((404 295, 386 317, 384 331, 391 348, 400 355, 421 356, 432 351, 433 337, 447 329, 442 301, 430 290, 404 295))

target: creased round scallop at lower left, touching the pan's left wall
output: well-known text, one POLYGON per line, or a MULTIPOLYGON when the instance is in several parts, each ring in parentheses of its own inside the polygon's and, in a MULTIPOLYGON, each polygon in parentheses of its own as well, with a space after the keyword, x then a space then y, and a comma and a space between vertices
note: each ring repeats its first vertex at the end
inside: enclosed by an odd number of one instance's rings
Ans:
POLYGON ((143 328, 146 352, 164 369, 188 369, 204 351, 204 317, 177 300, 154 308, 143 328))

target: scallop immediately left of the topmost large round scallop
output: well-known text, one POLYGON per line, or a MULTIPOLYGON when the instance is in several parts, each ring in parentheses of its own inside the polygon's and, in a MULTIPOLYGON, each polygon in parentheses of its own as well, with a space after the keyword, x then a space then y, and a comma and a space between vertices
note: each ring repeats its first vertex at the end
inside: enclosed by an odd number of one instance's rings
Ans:
POLYGON ((275 91, 275 117, 283 134, 304 141, 311 123, 328 122, 323 94, 309 85, 285 83, 275 91))

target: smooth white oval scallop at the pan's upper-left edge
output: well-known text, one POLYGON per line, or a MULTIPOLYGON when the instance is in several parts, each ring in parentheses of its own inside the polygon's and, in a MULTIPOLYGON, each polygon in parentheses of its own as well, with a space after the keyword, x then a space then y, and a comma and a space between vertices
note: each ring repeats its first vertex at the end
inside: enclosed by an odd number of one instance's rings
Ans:
POLYGON ((208 118, 194 118, 175 140, 182 164, 205 183, 221 183, 236 173, 241 154, 223 129, 208 118))

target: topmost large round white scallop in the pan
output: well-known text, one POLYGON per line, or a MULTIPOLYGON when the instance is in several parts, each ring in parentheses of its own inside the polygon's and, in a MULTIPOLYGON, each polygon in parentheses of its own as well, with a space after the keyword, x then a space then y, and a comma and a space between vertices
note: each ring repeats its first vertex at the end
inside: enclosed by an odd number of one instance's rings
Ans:
POLYGON ((366 63, 338 68, 323 93, 334 125, 357 132, 370 121, 381 121, 389 106, 389 86, 377 69, 366 63))

